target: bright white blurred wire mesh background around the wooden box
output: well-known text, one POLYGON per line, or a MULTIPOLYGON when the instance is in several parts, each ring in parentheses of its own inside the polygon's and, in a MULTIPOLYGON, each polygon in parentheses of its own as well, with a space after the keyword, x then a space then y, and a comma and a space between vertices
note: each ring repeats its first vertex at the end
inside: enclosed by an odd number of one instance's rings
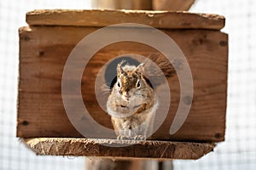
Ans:
MULTIPOLYGON (((15 137, 18 28, 39 8, 93 8, 90 0, 0 1, 0 170, 85 169, 84 157, 36 156, 15 137)), ((177 169, 256 169, 256 1, 197 0, 192 12, 222 14, 229 34, 226 140, 197 161, 173 161, 177 169), (255 39, 254 39, 255 38, 255 39)))

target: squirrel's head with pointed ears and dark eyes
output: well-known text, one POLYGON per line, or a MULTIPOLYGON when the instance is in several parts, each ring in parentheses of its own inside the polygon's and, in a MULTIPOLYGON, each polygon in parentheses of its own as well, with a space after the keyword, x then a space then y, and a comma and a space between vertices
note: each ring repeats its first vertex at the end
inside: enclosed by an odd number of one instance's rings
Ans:
POLYGON ((143 79, 143 64, 138 66, 118 64, 117 82, 114 88, 122 99, 129 101, 132 96, 142 94, 140 92, 146 88, 146 83, 143 79))

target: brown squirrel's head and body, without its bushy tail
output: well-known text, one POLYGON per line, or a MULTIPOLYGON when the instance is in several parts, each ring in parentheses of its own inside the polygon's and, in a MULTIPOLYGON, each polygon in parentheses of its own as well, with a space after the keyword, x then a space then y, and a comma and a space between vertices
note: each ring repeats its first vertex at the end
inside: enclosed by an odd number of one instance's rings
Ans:
POLYGON ((146 139, 153 133, 158 99, 143 77, 143 64, 117 65, 117 81, 108 96, 107 111, 117 139, 146 139))

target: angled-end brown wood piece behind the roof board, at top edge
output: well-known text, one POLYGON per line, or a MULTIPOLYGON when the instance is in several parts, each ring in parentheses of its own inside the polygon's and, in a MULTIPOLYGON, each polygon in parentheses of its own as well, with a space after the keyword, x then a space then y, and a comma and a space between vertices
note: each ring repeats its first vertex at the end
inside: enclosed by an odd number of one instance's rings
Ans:
POLYGON ((152 0, 154 10, 187 11, 195 0, 152 0))

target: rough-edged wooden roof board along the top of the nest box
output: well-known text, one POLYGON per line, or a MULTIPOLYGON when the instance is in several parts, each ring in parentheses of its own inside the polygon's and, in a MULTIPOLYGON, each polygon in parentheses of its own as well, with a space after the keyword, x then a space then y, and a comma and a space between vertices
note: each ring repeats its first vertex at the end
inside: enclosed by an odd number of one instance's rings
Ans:
POLYGON ((26 14, 30 26, 110 26, 137 23, 155 28, 211 29, 224 27, 224 16, 143 10, 34 10, 26 14))

